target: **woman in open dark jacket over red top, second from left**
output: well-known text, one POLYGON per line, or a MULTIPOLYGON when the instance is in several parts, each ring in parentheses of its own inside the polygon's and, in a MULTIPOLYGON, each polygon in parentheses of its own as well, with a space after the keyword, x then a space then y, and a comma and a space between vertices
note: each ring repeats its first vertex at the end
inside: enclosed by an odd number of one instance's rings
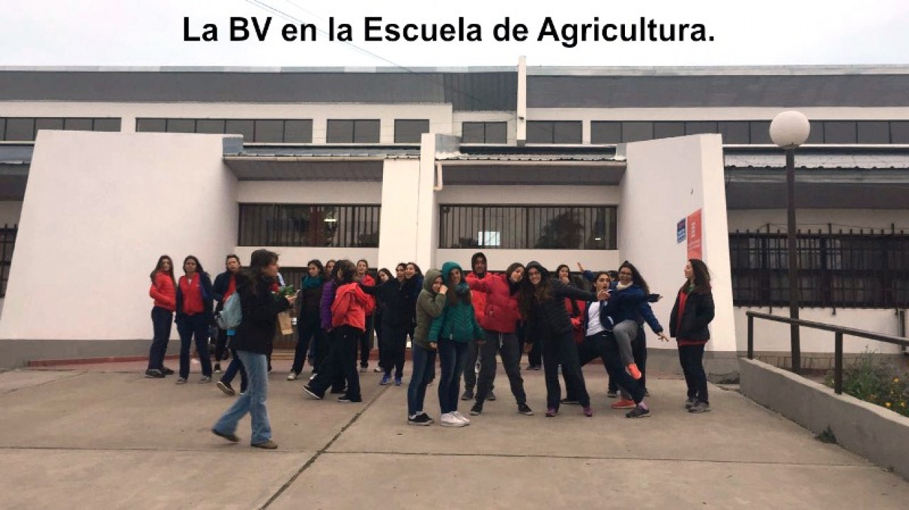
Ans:
POLYGON ((180 377, 176 384, 189 378, 189 348, 195 338, 195 350, 202 364, 201 383, 212 380, 212 358, 208 354, 208 327, 212 323, 212 280, 193 255, 183 260, 184 276, 176 286, 176 331, 180 334, 180 377))

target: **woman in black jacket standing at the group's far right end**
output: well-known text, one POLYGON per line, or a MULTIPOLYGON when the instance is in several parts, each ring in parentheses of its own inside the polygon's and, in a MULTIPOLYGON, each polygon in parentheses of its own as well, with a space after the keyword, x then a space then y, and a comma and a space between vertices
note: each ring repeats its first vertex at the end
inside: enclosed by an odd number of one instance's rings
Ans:
POLYGON ((710 410, 704 347, 710 339, 707 325, 714 319, 714 295, 710 290, 710 271, 703 260, 688 260, 684 277, 669 316, 669 335, 678 342, 679 363, 688 386, 684 407, 690 413, 704 413, 710 410))

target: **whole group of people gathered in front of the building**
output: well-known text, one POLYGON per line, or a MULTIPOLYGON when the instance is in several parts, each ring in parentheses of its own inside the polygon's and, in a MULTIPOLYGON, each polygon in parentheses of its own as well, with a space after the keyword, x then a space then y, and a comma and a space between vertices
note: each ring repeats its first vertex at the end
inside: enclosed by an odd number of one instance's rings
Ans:
MULTIPOLYGON (((642 325, 648 324, 663 341, 669 338, 650 309, 650 303, 660 296, 651 293, 644 277, 628 261, 618 271, 592 272, 578 264, 593 285, 588 291, 570 280, 567 266, 560 266, 551 276, 538 262, 515 262, 504 273, 493 273, 486 270, 483 253, 474 254, 469 272, 455 262, 446 262, 441 270, 427 270, 424 275, 411 262, 398 264, 395 275, 379 270, 377 281, 365 260, 330 260, 325 266, 311 260, 299 293, 284 296, 277 291, 277 259, 274 252, 256 250, 249 268, 242 270, 240 260, 228 256, 225 272, 213 284, 192 256, 186 257, 185 275, 176 281, 172 261, 162 256, 151 275, 155 338, 145 372, 149 378, 173 373, 164 366, 164 353, 176 314, 181 338, 177 382, 185 383, 188 378, 193 338, 202 363, 200 382, 210 381, 213 368, 207 328, 226 299, 238 294, 243 320, 235 330, 218 332, 215 360, 220 362, 229 345, 231 364, 218 387, 235 395, 230 380, 239 372, 241 397, 215 423, 212 432, 217 436, 238 440, 236 422, 249 412, 253 446, 275 447, 265 409, 269 357, 275 318, 295 305, 297 345, 287 379, 300 377, 308 356, 314 374, 303 389, 316 399, 325 398, 330 391, 340 394, 340 402, 362 401, 358 371, 368 366, 375 328, 379 346, 376 371, 383 373, 382 385, 403 385, 406 340, 408 336, 412 340, 406 418, 411 425, 435 423, 425 412, 424 402, 426 388, 435 380, 436 358, 440 425, 470 424, 470 418, 458 411, 459 395, 474 400, 470 415, 483 413, 484 403, 494 399, 497 355, 502 358, 517 412, 532 416, 520 368, 525 343, 533 346, 528 368, 542 365, 544 369, 546 417, 555 417, 564 404, 578 404, 584 416, 593 416, 581 368, 596 358, 602 360, 609 376, 608 394, 622 396, 613 407, 629 408, 626 417, 650 415, 644 402, 642 325), (477 365, 478 373, 474 370, 477 365), (460 393, 462 378, 464 394, 460 393)), ((702 260, 688 260, 684 278, 669 318, 669 332, 678 342, 688 387, 684 407, 698 413, 710 408, 703 357, 714 304, 710 274, 702 260)))

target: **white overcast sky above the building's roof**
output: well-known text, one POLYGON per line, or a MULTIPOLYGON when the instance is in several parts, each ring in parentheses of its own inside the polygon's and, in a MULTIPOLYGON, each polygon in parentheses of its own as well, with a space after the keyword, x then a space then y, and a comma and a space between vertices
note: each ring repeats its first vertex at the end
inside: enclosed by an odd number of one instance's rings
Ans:
POLYGON ((514 66, 519 55, 534 65, 771 65, 909 64, 907 0, 600 0, 574 2, 456 0, 441 2, 312 2, 307 0, 6 0, 0 11, 0 65, 5 66, 514 66), (289 17, 269 13, 270 5, 289 17), (231 42, 230 16, 273 16, 264 43, 231 42), (218 25, 219 41, 185 42, 184 16, 199 35, 218 25), (285 42, 286 23, 327 29, 353 25, 353 44, 285 42), (364 18, 386 23, 482 26, 483 41, 365 42, 364 18), (523 43, 497 42, 504 16, 528 26, 523 43), (704 24, 712 43, 587 42, 564 48, 537 42, 545 16, 557 25, 636 24, 644 16, 665 24, 704 24), (295 19, 294 19, 295 18, 295 19), (381 57, 381 58, 379 58, 381 57), (385 59, 385 60, 383 60, 385 59))

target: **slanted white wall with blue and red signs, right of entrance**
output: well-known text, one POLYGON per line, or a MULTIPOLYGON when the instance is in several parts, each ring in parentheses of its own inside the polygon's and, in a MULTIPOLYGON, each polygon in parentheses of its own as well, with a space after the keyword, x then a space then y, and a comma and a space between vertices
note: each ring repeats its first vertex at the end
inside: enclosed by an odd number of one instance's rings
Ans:
MULTIPOLYGON (((621 183, 618 248, 622 260, 641 271, 651 291, 665 298, 654 313, 669 329, 676 290, 684 282, 687 243, 676 243, 676 223, 702 210, 703 260, 711 270, 716 317, 707 348, 735 350, 732 278, 726 224, 723 147, 705 134, 627 145, 628 167, 621 183)), ((651 347, 675 348, 652 342, 651 347)))

